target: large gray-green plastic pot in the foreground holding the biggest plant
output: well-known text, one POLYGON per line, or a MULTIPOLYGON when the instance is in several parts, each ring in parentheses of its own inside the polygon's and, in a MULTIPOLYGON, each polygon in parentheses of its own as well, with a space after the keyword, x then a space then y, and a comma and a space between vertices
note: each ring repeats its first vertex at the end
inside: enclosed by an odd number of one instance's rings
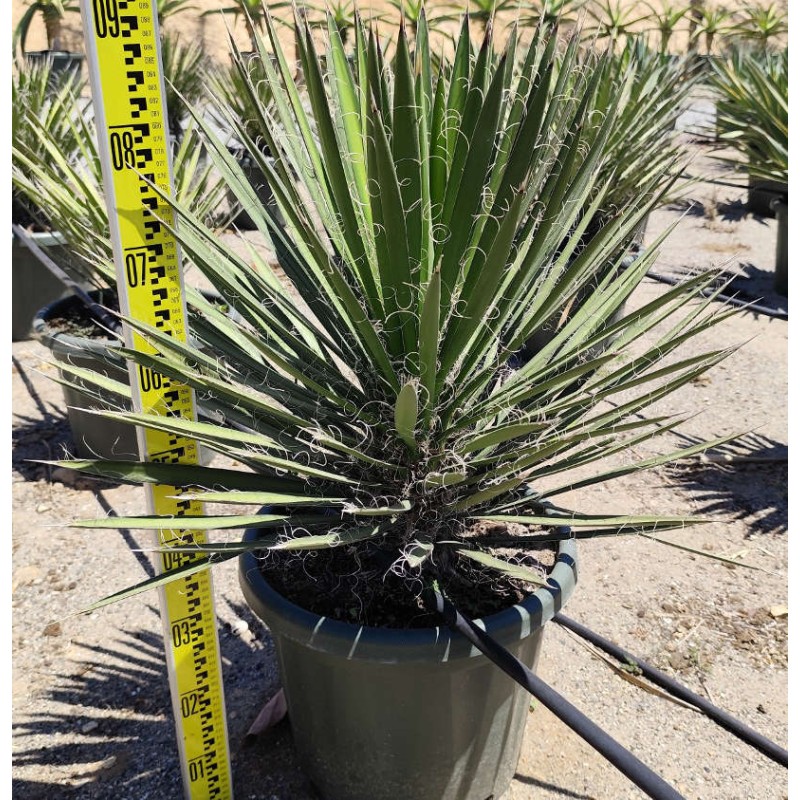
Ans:
MULTIPOLYGON (((245 541, 258 538, 245 532, 245 541)), ((544 624, 577 579, 574 540, 523 603, 479 621, 535 669, 544 624)), ((325 800, 487 800, 519 761, 530 695, 445 627, 369 628, 320 617, 269 586, 252 553, 239 580, 272 634, 294 742, 325 800)))

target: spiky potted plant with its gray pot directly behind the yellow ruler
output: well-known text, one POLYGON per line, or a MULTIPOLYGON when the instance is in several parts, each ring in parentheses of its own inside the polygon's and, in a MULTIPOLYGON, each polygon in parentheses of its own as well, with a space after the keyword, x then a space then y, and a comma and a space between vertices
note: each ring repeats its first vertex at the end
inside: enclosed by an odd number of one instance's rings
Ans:
MULTIPOLYGON (((91 290, 91 300, 115 310, 116 271, 91 101, 81 98, 77 86, 70 84, 43 107, 47 114, 31 104, 14 105, 15 196, 35 209, 34 218, 49 229, 43 235, 55 237, 60 244, 57 254, 48 248, 56 266, 80 287, 91 290)), ((212 217, 219 213, 224 186, 213 176, 211 166, 202 163, 199 143, 197 132, 190 128, 174 153, 175 194, 201 219, 214 224, 212 217)), ((41 242, 40 235, 32 235, 41 242)), ((25 315, 25 330, 33 330, 59 365, 75 454, 136 458, 138 447, 129 426, 97 419, 82 410, 130 406, 127 367, 110 352, 119 340, 108 328, 108 320, 105 326, 99 325, 91 308, 71 294, 34 254, 25 262, 15 255, 14 281, 15 299, 17 281, 20 291, 32 282, 29 302, 15 304, 14 314, 25 315), (55 288, 48 295, 42 289, 50 284, 55 288), (92 387, 84 379, 87 372, 104 376, 103 385, 92 387)), ((210 298, 192 289, 190 301, 193 308, 206 312, 211 304, 210 298)))

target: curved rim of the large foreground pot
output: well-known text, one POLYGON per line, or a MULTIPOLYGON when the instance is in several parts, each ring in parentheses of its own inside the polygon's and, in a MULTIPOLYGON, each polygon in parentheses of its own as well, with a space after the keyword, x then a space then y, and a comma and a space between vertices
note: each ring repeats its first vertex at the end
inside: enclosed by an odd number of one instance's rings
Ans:
MULTIPOLYGON (((260 535, 257 528, 244 533, 244 541, 260 535)), ((527 638, 549 622, 571 596, 577 581, 577 546, 574 538, 559 542, 550 587, 540 587, 522 602, 475 620, 500 644, 509 646, 527 638)), ((273 635, 287 637, 314 650, 349 659, 383 662, 452 661, 481 656, 480 651, 445 626, 433 628, 377 628, 320 616, 291 602, 270 586, 251 551, 239 556, 239 580, 251 609, 273 635)))

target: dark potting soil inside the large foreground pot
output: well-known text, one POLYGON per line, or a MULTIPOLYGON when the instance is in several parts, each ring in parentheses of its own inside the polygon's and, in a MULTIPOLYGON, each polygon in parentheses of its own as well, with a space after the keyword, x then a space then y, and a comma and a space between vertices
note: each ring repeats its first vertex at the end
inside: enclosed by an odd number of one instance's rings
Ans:
MULTIPOLYGON (((494 533, 494 531, 493 531, 494 533)), ((529 533, 528 529, 524 533, 529 533)), ((556 560, 552 543, 536 548, 483 548, 544 578, 556 560)), ((370 627, 428 628, 441 624, 423 605, 416 574, 393 569, 398 550, 359 543, 306 552, 260 554, 261 573, 278 593, 312 613, 370 627)), ((454 551, 435 559, 440 590, 470 619, 503 611, 536 590, 524 580, 483 567, 454 551), (445 566, 447 562, 447 566, 445 566)))

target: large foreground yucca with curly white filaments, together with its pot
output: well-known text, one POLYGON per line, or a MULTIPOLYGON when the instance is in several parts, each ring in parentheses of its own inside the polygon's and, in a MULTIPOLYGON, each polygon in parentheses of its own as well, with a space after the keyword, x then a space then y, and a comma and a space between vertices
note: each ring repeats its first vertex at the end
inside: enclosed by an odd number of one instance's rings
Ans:
MULTIPOLYGON (((659 540, 690 524, 628 509, 600 517, 553 500, 708 446, 622 468, 604 461, 675 427, 643 412, 726 355, 676 351, 732 312, 698 298, 716 277, 699 275, 625 315, 609 351, 587 355, 608 334, 598 320, 656 251, 622 272, 607 261, 659 198, 643 192, 584 238, 603 201, 617 106, 587 113, 603 70, 580 60, 577 37, 559 58, 557 37, 543 30, 530 46, 512 36, 497 56, 487 33, 473 57, 465 20, 452 62, 434 72, 423 18, 413 50, 401 29, 386 64, 360 29, 353 69, 331 23, 326 79, 311 31, 299 27, 303 96, 267 26, 272 49, 260 43, 259 55, 280 102, 267 109, 258 87, 247 90, 274 161, 246 130, 236 134, 285 224, 259 206, 199 112, 198 121, 281 278, 176 203, 185 251, 240 316, 197 319, 195 334, 214 342, 208 355, 149 330, 156 355, 147 361, 202 392, 217 421, 109 416, 188 434, 243 467, 214 469, 211 480, 202 466, 150 465, 145 480, 269 509, 182 518, 187 531, 250 531, 242 542, 187 539, 173 548, 186 553, 182 566, 98 605, 257 553, 242 561, 243 589, 273 632, 295 741, 323 794, 499 796, 529 700, 439 626, 424 591, 483 617, 533 663, 541 626, 572 590, 575 538, 646 531, 659 540), (584 79, 554 91, 573 73, 584 79), (580 313, 509 373, 509 357, 599 273, 580 313), (664 334, 638 347, 665 320, 664 334)), ((143 474, 124 462, 61 463, 123 480, 143 474)), ((175 519, 75 524, 172 530, 175 519)))

